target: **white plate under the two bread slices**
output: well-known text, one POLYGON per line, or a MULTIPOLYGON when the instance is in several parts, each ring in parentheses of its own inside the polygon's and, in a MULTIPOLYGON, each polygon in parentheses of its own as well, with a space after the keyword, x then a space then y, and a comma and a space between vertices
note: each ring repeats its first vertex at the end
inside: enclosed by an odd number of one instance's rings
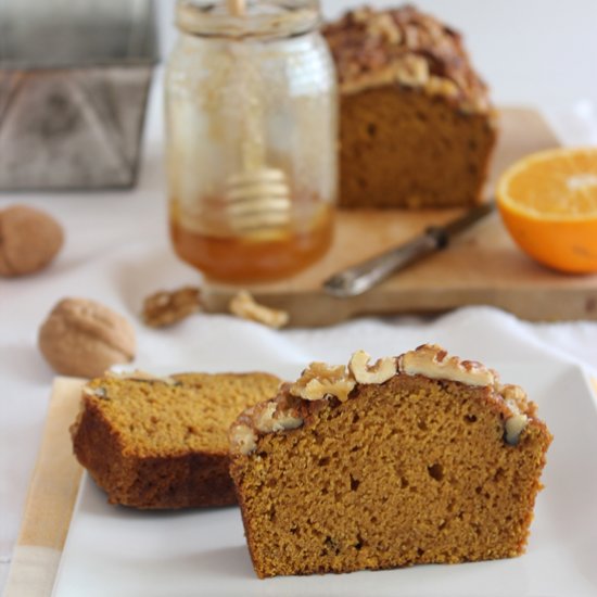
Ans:
MULTIPOLYGON (((56 597, 597 595, 597 408, 580 368, 492 364, 538 404, 555 440, 528 552, 516 559, 261 581, 237 508, 148 513, 81 484, 56 597)), ((282 372, 282 371, 280 371, 282 372)))

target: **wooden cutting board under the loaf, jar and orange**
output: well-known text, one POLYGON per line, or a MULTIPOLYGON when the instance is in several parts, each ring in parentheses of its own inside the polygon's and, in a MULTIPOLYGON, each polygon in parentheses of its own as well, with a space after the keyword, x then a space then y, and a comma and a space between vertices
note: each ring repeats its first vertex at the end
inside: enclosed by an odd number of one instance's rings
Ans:
MULTIPOLYGON (((507 165, 558 144, 536 112, 503 110, 487 192, 492 192, 507 165)), ((486 217, 447 250, 396 274, 366 294, 335 298, 321 290, 322 281, 338 270, 461 213, 341 211, 333 245, 323 259, 290 279, 243 288, 259 303, 288 310, 293 327, 326 326, 365 314, 440 313, 462 305, 493 305, 535 321, 597 319, 597 275, 567 276, 534 263, 511 241, 498 214, 486 217)), ((227 313, 238 290, 206 281, 203 297, 207 310, 227 313)))

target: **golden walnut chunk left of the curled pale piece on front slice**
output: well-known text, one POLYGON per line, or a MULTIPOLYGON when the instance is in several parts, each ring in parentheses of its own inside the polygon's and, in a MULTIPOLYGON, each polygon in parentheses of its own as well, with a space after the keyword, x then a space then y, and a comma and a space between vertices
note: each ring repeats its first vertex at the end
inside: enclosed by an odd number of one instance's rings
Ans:
POLYGON ((335 396, 340 402, 345 402, 355 384, 343 365, 331 367, 326 363, 312 363, 291 385, 290 393, 305 401, 335 396))

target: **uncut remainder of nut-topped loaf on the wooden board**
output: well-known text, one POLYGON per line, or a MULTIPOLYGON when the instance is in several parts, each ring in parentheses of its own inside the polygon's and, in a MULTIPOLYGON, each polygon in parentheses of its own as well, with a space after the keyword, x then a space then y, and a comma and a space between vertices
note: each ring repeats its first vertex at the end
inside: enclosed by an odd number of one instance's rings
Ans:
POLYGON ((350 11, 323 34, 341 91, 340 205, 480 203, 496 114, 460 35, 410 5, 350 11))

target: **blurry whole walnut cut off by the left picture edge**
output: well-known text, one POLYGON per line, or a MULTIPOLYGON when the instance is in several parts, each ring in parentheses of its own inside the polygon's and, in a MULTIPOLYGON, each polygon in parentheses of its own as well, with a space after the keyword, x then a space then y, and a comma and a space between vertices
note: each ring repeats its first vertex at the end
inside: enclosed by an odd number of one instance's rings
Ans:
POLYGON ((0 211, 0 276, 34 274, 62 247, 64 233, 47 213, 27 205, 0 211))

